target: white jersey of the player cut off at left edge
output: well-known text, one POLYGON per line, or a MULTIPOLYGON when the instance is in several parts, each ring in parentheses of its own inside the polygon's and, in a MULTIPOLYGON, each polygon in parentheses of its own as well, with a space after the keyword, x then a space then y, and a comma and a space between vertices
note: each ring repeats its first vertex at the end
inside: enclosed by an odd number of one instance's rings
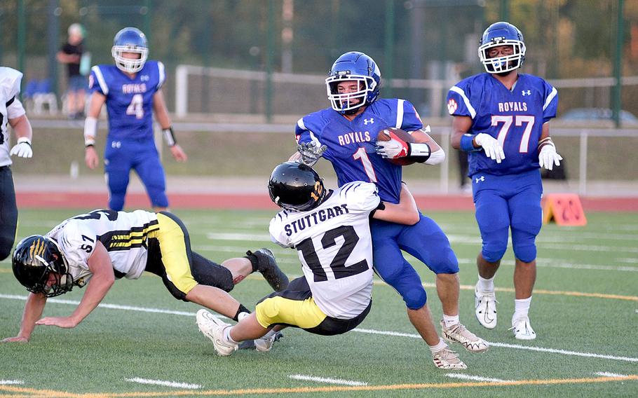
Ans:
POLYGON ((19 71, 0 67, 0 167, 11 165, 8 120, 25 114, 25 108, 18 99, 20 81, 22 74, 19 71))

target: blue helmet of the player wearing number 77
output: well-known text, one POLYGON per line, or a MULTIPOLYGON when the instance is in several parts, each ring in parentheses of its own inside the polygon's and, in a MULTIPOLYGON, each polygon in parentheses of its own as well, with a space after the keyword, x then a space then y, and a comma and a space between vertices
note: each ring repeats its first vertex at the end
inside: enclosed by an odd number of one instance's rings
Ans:
POLYGON ((523 34, 508 22, 496 22, 489 25, 479 43, 479 58, 489 74, 501 74, 523 66, 525 60, 525 43, 523 34), (490 48, 512 46, 513 54, 490 58, 490 48))

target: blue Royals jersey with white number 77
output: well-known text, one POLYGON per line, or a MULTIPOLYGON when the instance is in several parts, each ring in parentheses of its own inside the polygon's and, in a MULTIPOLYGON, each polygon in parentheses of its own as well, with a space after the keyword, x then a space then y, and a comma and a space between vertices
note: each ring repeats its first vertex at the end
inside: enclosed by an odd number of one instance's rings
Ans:
POLYGON ((538 169, 538 140, 543 123, 556 116, 558 94, 542 78, 518 75, 512 90, 491 74, 470 76, 452 87, 447 106, 452 116, 469 116, 469 134, 487 133, 498 139, 505 159, 496 163, 482 149, 470 152, 469 172, 505 175, 538 169))

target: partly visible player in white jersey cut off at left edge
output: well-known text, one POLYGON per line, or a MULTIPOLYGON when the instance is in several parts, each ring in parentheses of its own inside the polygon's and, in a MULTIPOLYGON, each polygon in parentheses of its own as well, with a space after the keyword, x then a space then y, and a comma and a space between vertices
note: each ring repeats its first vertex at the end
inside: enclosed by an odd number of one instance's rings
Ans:
POLYGON ((31 158, 31 123, 18 98, 22 73, 0 67, 0 261, 11 254, 18 228, 18 205, 15 203, 11 156, 31 158), (8 126, 11 125, 18 142, 9 150, 8 126))

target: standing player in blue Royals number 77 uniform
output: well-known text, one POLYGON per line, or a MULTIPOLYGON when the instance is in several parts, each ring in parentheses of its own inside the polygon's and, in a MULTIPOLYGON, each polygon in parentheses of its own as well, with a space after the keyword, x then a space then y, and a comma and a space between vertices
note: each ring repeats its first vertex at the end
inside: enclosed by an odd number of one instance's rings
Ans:
POLYGON ((558 95, 542 78, 519 74, 525 60, 520 30, 496 22, 483 33, 478 48, 487 73, 470 76, 449 90, 447 106, 454 116, 452 146, 469 153, 476 220, 482 250, 475 313, 480 324, 496 327, 494 275, 512 230, 515 256, 514 336, 536 338, 529 323, 529 304, 536 281, 536 235, 541 231, 541 174, 562 157, 550 137, 558 95))

